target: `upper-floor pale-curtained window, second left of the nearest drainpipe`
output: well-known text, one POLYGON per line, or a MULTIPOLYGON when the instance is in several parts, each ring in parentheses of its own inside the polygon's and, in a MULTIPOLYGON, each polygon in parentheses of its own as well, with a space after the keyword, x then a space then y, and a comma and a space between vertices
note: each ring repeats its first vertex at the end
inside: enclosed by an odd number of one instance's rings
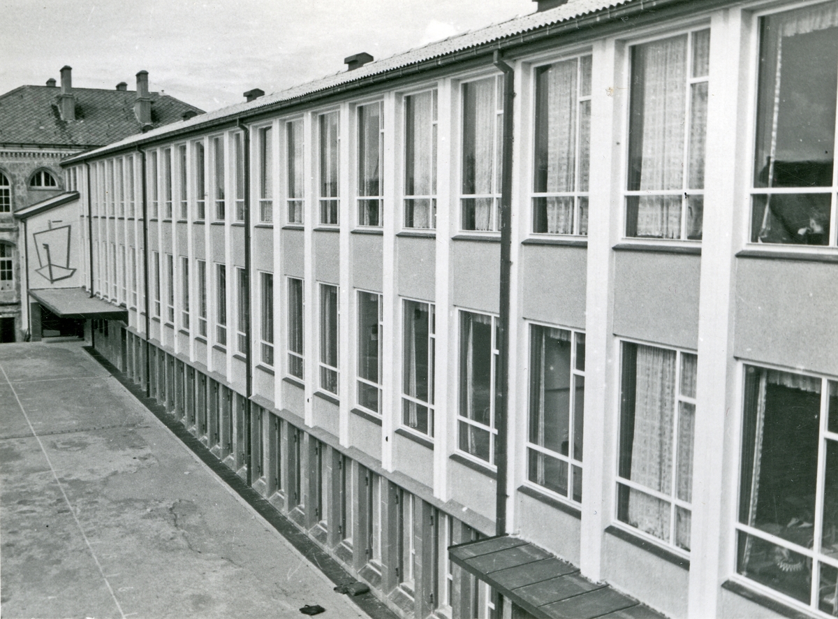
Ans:
POLYGON ((405 97, 405 227, 437 227, 437 91, 405 97))

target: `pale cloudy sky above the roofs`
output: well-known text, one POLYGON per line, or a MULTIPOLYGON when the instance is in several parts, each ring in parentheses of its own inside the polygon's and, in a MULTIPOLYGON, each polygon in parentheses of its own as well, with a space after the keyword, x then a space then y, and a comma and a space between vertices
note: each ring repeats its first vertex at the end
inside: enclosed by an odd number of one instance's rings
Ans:
POLYGON ((206 111, 532 13, 531 0, 0 0, 0 94, 73 67, 73 86, 136 87, 206 111))

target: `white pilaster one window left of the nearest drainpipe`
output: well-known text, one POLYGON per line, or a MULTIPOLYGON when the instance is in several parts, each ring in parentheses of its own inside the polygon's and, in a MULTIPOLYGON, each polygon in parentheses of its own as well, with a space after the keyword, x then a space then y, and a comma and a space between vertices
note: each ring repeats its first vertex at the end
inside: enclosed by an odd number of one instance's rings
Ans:
POLYGON ((436 367, 433 450, 433 494, 441 501, 451 498, 448 456, 457 449, 457 311, 451 304, 451 237, 457 221, 456 157, 453 136, 457 130, 456 97, 450 78, 439 81, 437 98, 437 273, 436 273, 436 367))

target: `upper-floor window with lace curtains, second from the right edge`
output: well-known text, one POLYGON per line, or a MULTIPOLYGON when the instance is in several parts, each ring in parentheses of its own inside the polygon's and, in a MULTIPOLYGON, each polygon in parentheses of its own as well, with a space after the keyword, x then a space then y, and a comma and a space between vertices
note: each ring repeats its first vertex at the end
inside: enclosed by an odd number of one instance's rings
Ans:
POLYGON ((710 30, 631 48, 626 237, 700 240, 710 30))

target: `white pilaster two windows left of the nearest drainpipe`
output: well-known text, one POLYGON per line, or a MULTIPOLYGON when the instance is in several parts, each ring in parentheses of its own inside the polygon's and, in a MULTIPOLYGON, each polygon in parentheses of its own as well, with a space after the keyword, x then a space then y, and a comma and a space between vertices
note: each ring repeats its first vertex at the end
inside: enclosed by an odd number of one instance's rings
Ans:
MULTIPOLYGON (((381 406, 381 466, 385 471, 393 470, 393 431, 398 427, 401 415, 401 383, 396 375, 396 365, 399 359, 396 351, 399 349, 396 341, 401 332, 401 304, 396 294, 396 231, 400 228, 401 208, 396 203, 396 185, 401 187, 396 178, 396 170, 401 169, 398 149, 396 147, 396 93, 388 91, 384 96, 384 148, 381 162, 381 179, 384 183, 384 237, 382 239, 382 315, 384 320, 381 334, 383 345, 383 359, 381 363, 381 389, 384 393, 381 406)), ((401 117, 401 116, 400 116, 401 117)))

